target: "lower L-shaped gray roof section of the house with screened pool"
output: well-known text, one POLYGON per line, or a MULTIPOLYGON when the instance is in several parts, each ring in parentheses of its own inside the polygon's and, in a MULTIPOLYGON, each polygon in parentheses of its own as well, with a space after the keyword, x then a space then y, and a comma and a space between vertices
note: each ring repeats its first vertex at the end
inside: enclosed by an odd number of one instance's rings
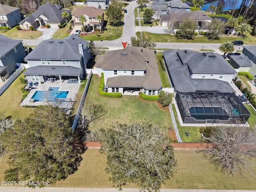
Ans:
MULTIPOLYGON (((189 50, 186 51, 189 52, 189 50)), ((195 92, 197 90, 233 92, 234 89, 228 82, 217 79, 191 78, 189 65, 182 64, 177 52, 178 50, 163 52, 168 73, 176 90, 180 92, 195 92)))

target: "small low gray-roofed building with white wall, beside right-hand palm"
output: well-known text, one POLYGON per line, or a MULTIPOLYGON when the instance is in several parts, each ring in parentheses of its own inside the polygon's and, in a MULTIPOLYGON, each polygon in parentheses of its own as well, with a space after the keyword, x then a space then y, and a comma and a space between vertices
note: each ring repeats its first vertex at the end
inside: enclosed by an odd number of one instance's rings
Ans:
POLYGON ((248 56, 230 55, 229 63, 237 72, 249 72, 252 67, 248 56))

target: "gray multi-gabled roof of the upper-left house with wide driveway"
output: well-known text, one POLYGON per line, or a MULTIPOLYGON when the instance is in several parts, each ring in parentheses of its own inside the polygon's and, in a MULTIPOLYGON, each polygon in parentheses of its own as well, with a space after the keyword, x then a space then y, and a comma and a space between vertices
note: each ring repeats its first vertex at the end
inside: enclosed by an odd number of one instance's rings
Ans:
POLYGON ((25 21, 29 22, 30 24, 33 24, 35 21, 35 18, 42 19, 40 15, 45 16, 48 18, 47 22, 61 22, 64 18, 62 18, 62 12, 68 12, 71 13, 70 10, 62 9, 62 6, 52 3, 46 3, 42 4, 38 9, 32 13, 30 16, 27 16, 24 18, 19 24, 24 23, 25 21))

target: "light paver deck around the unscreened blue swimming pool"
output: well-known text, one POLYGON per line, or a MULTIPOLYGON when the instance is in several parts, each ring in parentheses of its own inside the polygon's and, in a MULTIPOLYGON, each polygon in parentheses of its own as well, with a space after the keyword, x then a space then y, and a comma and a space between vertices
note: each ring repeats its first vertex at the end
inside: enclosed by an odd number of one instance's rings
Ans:
MULTIPOLYGON (((30 91, 30 93, 28 94, 28 96, 22 101, 22 103, 20 104, 21 106, 38 106, 38 105, 48 105, 48 102, 34 102, 34 103, 30 103, 29 100, 30 98, 33 96, 33 94, 36 92, 36 90, 38 91, 47 91, 49 89, 49 87, 60 87, 59 91, 69 91, 67 98, 71 98, 72 101, 78 101, 78 99, 76 98, 76 94, 78 92, 78 89, 80 87, 81 84, 79 83, 67 83, 68 80, 64 80, 62 83, 60 82, 60 80, 57 80, 56 82, 44 82, 44 84, 38 84, 38 86, 32 86, 32 89, 30 91)), ((79 102, 79 101, 78 101, 79 102)), ((50 104, 52 102, 49 102, 50 104)))

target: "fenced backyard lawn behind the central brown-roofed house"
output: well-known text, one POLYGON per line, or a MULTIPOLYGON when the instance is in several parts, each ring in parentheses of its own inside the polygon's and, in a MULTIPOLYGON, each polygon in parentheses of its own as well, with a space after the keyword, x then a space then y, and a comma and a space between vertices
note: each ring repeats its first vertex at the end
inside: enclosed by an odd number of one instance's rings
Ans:
POLYGON ((156 102, 141 101, 138 96, 122 96, 122 98, 106 98, 98 93, 100 78, 93 75, 84 106, 101 103, 107 112, 99 120, 92 122, 90 130, 110 128, 113 123, 131 123, 148 120, 160 124, 161 131, 171 127, 168 110, 162 110, 156 102))

